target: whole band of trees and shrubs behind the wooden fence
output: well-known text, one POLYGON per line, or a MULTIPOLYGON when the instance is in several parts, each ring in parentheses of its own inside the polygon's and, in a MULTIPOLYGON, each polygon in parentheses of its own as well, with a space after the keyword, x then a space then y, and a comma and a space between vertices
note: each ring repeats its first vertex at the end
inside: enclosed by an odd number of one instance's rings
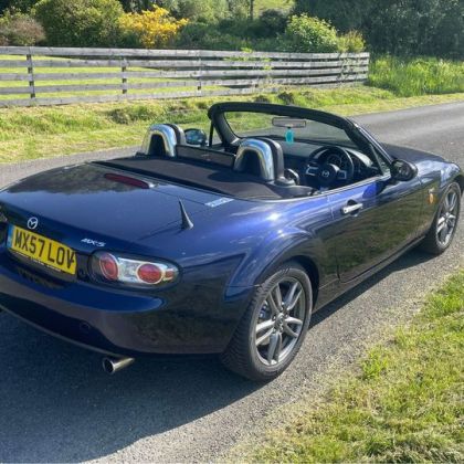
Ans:
POLYGON ((463 60, 464 0, 0 0, 0 41, 305 52, 367 48, 375 54, 463 60), (131 31, 130 21, 120 21, 124 13, 152 12, 154 6, 169 11, 175 33, 166 40, 154 34, 166 21, 145 21, 152 40, 141 36, 139 21, 131 31), (11 18, 18 13, 24 17, 17 28, 11 18), (316 18, 337 30, 336 44, 330 28, 316 18), (176 22, 183 19, 188 24, 176 22))

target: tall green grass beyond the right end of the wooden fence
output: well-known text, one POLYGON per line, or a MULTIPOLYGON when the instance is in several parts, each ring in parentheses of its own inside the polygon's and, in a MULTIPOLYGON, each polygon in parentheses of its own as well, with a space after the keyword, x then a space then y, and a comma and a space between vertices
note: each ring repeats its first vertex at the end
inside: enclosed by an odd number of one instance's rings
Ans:
POLYGON ((464 92, 464 62, 381 57, 371 63, 368 83, 399 96, 464 92))

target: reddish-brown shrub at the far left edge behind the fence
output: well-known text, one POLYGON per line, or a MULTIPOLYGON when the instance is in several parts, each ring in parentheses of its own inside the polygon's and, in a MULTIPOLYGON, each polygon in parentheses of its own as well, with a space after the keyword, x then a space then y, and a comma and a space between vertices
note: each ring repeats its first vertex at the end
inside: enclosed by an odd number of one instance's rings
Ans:
POLYGON ((25 13, 7 10, 0 17, 1 45, 35 45, 45 40, 42 25, 25 13))

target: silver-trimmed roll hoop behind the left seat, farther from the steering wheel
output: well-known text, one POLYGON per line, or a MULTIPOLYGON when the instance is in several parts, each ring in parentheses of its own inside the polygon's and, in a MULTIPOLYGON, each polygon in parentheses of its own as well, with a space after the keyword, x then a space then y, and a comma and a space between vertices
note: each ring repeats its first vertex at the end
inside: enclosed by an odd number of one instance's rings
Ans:
POLYGON ((176 146, 186 143, 183 130, 175 124, 154 124, 147 130, 140 154, 176 157, 176 146))

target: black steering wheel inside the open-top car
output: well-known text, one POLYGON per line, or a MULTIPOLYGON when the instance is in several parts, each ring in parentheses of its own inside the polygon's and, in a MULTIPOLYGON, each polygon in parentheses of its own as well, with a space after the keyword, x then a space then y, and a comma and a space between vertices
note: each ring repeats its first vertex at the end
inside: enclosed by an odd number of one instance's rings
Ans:
POLYGON ((355 177, 355 164, 348 151, 335 145, 326 145, 313 151, 306 165, 306 175, 317 177, 321 187, 330 187, 337 180, 348 183, 355 177), (326 160, 320 165, 318 159, 324 155, 329 156, 326 156, 326 160), (330 156, 338 157, 339 162, 328 162, 330 156))

